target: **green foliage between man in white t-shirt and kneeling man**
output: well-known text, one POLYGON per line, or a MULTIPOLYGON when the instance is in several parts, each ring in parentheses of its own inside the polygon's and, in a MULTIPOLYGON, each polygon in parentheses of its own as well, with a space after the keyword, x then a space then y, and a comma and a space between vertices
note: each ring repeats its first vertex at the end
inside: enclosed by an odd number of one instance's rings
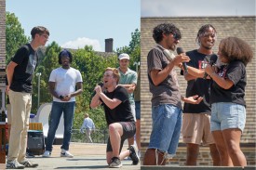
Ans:
POLYGON ((101 109, 90 110, 89 103, 94 93, 94 87, 101 82, 102 74, 107 67, 116 67, 116 56, 102 58, 91 46, 75 50, 74 68, 82 74, 83 93, 76 98, 76 115, 74 116, 74 128, 80 128, 84 120, 85 111, 90 113, 97 128, 105 129, 104 111, 101 109))

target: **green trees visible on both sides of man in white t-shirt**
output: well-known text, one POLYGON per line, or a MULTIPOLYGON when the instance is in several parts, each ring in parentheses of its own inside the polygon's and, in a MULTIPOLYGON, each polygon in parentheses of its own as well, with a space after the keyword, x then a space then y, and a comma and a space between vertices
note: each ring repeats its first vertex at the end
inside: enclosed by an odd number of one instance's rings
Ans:
MULTIPOLYGON (((56 42, 51 43, 45 48, 41 63, 39 63, 36 72, 41 72, 40 81, 40 105, 46 102, 51 102, 52 97, 48 92, 48 78, 50 72, 58 67, 58 55, 61 52, 61 46, 56 42)), ((107 67, 116 67, 116 55, 103 58, 97 52, 93 51, 92 46, 71 50, 73 54, 72 67, 81 72, 83 77, 83 93, 75 98, 76 107, 74 114, 74 129, 80 128, 84 120, 85 111, 90 113, 90 117, 95 120, 97 128, 105 129, 104 111, 101 109, 90 110, 89 103, 92 98, 94 87, 101 82, 102 73, 107 67), (102 121, 103 120, 103 121, 102 121)), ((33 107, 32 112, 37 111, 37 85, 38 79, 34 78, 33 82, 33 107)))

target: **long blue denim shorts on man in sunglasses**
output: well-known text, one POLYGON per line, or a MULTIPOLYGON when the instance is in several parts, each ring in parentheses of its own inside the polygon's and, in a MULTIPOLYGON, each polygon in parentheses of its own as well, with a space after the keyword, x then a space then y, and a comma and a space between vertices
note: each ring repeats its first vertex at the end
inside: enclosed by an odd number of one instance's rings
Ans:
POLYGON ((152 119, 148 148, 175 155, 182 128, 182 110, 171 104, 158 105, 152 108, 152 119))

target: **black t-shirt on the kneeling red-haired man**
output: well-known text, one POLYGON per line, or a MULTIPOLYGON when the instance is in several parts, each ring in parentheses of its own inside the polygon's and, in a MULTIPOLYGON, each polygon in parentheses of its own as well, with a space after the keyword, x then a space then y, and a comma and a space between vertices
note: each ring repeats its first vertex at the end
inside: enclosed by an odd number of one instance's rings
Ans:
POLYGON ((102 101, 104 106, 105 117, 107 124, 113 124, 118 122, 134 122, 133 115, 131 113, 130 104, 128 100, 128 92, 122 86, 117 86, 113 92, 104 92, 108 98, 117 98, 122 102, 111 110, 107 105, 102 101))

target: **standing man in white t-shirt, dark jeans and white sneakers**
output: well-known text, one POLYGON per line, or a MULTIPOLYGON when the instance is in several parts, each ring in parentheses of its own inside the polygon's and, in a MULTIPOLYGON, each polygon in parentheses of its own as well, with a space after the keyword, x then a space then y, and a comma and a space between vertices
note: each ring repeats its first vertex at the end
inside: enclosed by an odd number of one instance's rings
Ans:
POLYGON ((64 132, 61 157, 74 157, 68 150, 74 120, 75 97, 83 92, 83 80, 81 72, 71 67, 72 60, 73 55, 71 52, 63 49, 59 54, 61 67, 53 70, 49 76, 49 93, 53 97, 53 102, 49 117, 46 151, 43 157, 50 157, 51 155, 55 133, 62 113, 64 117, 64 132))

